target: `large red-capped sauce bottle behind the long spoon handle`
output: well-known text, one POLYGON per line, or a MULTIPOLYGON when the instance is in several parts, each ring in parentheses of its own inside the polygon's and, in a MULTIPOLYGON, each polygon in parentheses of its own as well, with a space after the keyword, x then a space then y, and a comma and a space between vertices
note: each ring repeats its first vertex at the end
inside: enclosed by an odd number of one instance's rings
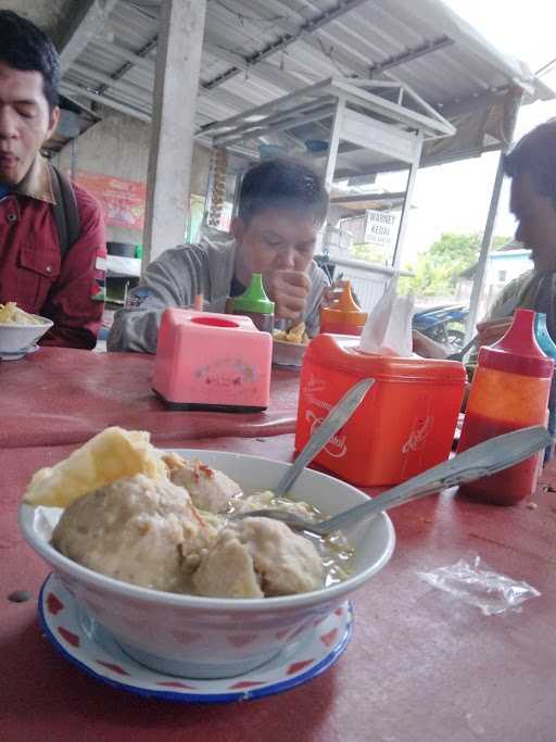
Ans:
MULTIPOLYGON (((479 351, 458 452, 510 430, 545 425, 553 368, 534 337, 534 312, 517 310, 506 335, 479 351)), ((460 486, 459 491, 483 502, 514 505, 533 493, 539 455, 460 486)))

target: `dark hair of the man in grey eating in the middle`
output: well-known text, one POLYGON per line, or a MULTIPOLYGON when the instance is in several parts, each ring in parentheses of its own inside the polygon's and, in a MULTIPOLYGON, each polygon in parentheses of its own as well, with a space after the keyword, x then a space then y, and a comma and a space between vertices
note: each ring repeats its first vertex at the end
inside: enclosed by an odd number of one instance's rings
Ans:
POLYGON ((267 209, 307 214, 320 225, 326 218, 328 193, 315 171, 301 160, 265 160, 243 176, 238 216, 249 225, 253 216, 267 209))

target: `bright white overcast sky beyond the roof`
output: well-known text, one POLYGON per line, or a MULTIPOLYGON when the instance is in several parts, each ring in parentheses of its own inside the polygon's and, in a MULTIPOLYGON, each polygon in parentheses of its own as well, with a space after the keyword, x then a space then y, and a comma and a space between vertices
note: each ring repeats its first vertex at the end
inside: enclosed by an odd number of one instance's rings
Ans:
MULTIPOLYGON (((556 0, 444 0, 500 51, 536 72, 556 58, 556 0)), ((556 90, 556 65, 542 80, 556 90)), ((515 139, 547 118, 556 117, 556 100, 521 106, 515 139)), ((426 250, 443 231, 482 231, 491 199, 497 153, 418 172, 409 214, 403 264, 426 250)), ((384 181, 380 185, 390 184, 384 181)), ((394 185, 392 180, 392 185, 394 185)), ((496 221, 497 235, 513 236, 505 181, 496 221)))

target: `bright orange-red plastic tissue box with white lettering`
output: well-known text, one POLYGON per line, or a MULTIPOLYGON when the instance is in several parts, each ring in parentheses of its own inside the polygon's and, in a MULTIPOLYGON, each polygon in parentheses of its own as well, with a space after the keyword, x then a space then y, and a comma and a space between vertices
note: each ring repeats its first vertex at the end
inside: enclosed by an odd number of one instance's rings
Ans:
POLYGON ((315 461, 359 487, 396 485, 448 456, 465 368, 455 361, 362 353, 358 342, 325 334, 311 341, 301 372, 295 449, 305 445, 354 383, 375 378, 359 407, 315 461))

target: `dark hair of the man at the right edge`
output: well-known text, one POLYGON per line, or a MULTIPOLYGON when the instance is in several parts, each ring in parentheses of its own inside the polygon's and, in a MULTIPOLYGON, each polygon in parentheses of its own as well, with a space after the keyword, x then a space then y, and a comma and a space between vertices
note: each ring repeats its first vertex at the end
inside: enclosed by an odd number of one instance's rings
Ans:
POLYGON ((504 158, 504 169, 511 178, 527 173, 536 192, 556 203, 556 118, 526 134, 504 158))

